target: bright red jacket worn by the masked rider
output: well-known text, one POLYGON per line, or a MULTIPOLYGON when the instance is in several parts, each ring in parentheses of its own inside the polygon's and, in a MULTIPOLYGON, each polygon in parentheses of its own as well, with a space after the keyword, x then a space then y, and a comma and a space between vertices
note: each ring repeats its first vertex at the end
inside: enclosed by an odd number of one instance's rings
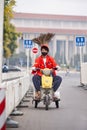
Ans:
MULTIPOLYGON (((47 55, 45 64, 44 64, 44 61, 43 61, 43 57, 39 56, 38 58, 36 58, 33 67, 40 68, 40 69, 44 69, 44 68, 52 69, 52 68, 55 68, 57 65, 58 64, 56 63, 54 58, 52 58, 51 56, 47 55)), ((39 70, 32 71, 32 74, 37 74, 39 76, 42 76, 42 73, 39 70)), ((56 75, 55 70, 53 71, 53 74, 56 75)))

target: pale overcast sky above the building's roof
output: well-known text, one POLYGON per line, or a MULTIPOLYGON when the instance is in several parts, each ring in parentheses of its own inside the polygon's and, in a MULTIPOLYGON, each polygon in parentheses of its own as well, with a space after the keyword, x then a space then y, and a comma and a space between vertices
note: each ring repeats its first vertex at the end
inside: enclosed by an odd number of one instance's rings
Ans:
POLYGON ((87 16, 87 0, 16 0, 16 12, 87 16))

